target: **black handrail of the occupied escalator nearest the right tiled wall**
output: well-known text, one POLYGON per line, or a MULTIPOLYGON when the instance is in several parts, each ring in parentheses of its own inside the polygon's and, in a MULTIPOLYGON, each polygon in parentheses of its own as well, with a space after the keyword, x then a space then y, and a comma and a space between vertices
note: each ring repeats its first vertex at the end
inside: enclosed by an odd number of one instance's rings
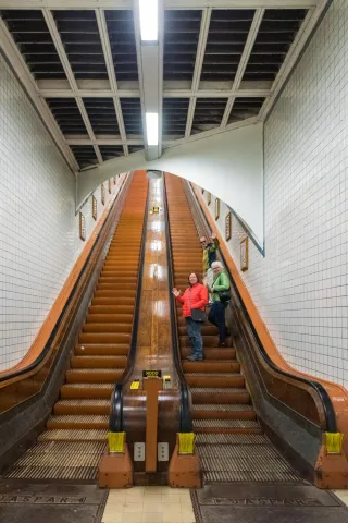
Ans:
MULTIPOLYGON (((199 199, 197 198, 197 195, 190 184, 190 182, 187 182, 188 184, 188 187, 190 190, 190 193, 195 199, 195 202, 197 203, 197 206, 198 206, 198 209, 200 210, 200 214, 201 214, 201 218, 203 219, 203 222, 206 223, 206 227, 208 229, 208 231, 211 232, 211 227, 209 224, 209 221, 207 219, 207 216, 206 216, 206 212, 199 202, 199 199)), ((259 351, 260 351, 260 354, 262 356, 262 358, 264 360, 264 362, 272 368, 272 370, 274 370, 275 373, 277 374, 281 374, 282 376, 286 376, 287 378, 291 378, 291 379, 295 379, 296 381, 300 381, 302 384, 306 384, 308 385, 309 387, 311 387, 312 389, 315 390, 319 399, 320 399, 320 402, 323 406, 323 411, 324 411, 324 414, 325 414, 325 419, 326 419, 326 431, 327 433, 337 433, 337 422, 336 422, 336 414, 335 414, 335 409, 334 409, 334 405, 331 401, 331 398, 326 391, 326 389, 321 385, 319 384, 318 381, 315 380, 311 380, 311 379, 306 379, 306 378, 302 378, 301 376, 296 376, 294 374, 290 374, 290 373, 287 373, 286 370, 283 370, 282 368, 279 368, 277 365, 275 365, 275 363, 272 361, 272 358, 269 356, 268 352, 265 351, 260 338, 259 338, 259 335, 253 326, 253 323, 251 321, 251 318, 249 316, 249 313, 245 306, 245 303, 240 296, 240 293, 239 293, 239 290, 236 285, 236 282, 234 281, 234 278, 233 276, 231 275, 231 271, 229 271, 229 268, 228 268, 228 265, 226 264, 226 260, 225 260, 225 257, 222 253, 221 250, 219 250, 219 254, 220 254, 220 257, 225 266, 225 269, 228 273, 228 277, 229 277, 229 280, 233 284, 233 288, 238 296, 238 300, 239 300, 239 304, 241 306, 241 309, 244 312, 244 315, 245 315, 245 318, 247 319, 247 323, 250 327, 250 329, 252 330, 253 332, 253 336, 258 342, 258 346, 259 346, 259 351)), ((299 413, 300 414, 300 413, 299 413)), ((302 416, 302 414, 300 414, 302 416)), ((303 417, 303 416, 302 416, 303 417)), ((312 423, 310 419, 308 419, 308 422, 312 423)))

